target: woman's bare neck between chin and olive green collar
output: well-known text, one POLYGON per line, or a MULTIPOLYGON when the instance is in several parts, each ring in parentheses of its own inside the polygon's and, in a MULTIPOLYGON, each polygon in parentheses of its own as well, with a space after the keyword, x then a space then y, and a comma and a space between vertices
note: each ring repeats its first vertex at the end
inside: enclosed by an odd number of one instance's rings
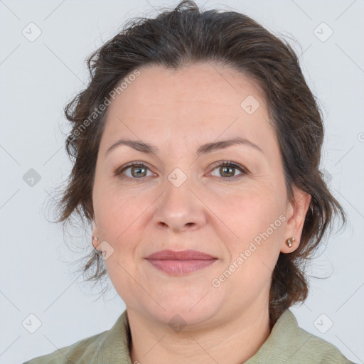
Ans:
POLYGON ((257 353, 270 333, 268 307, 240 312, 210 328, 202 323, 178 332, 132 309, 127 313, 132 363, 241 364, 257 353))

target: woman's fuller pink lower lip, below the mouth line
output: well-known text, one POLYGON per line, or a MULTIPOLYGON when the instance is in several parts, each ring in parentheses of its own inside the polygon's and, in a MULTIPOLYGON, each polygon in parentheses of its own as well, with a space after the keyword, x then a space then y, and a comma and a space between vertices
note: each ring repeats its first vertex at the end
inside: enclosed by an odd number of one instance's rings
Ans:
POLYGON ((193 259, 193 260, 159 260, 147 259, 149 263, 153 264, 157 269, 171 274, 183 275, 191 272, 196 272, 209 265, 213 264, 217 259, 193 259))

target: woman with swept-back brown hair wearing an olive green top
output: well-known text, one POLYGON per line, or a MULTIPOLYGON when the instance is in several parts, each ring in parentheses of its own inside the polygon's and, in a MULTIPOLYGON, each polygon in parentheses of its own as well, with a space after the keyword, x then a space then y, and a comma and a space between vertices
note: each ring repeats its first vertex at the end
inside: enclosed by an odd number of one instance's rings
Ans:
POLYGON ((85 272, 127 309, 27 363, 353 363, 299 328, 304 263, 336 213, 323 122, 294 50, 193 1, 132 21, 66 107, 60 219, 92 223, 85 272))

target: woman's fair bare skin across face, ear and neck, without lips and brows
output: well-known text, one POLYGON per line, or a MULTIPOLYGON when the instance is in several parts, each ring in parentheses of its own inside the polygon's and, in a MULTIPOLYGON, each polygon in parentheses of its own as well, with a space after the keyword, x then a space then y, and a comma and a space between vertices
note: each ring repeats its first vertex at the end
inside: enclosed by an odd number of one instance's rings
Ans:
POLYGON ((105 264, 127 306, 132 361, 242 363, 269 336, 272 269, 279 252, 298 247, 311 196, 295 188, 296 203, 287 200, 276 133, 259 89, 245 75, 215 63, 139 70, 109 106, 92 191, 92 232, 112 249, 105 264), (249 95, 260 105, 252 114, 240 106, 249 95), (262 152, 234 145, 196 154, 202 144, 234 137, 252 141, 262 152), (121 138, 159 151, 144 154, 123 145, 105 156, 121 138), (243 171, 226 170, 223 161, 243 171), (127 168, 114 176, 129 162, 143 162, 147 169, 127 168), (168 179, 175 168, 187 178, 178 187, 168 179), (269 237, 237 264, 240 253, 280 215, 280 226, 275 223, 269 237), (291 248, 285 243, 289 237, 296 239, 291 248), (199 250, 218 259, 174 277, 145 259, 164 249, 199 250), (213 287, 213 279, 234 262, 230 277, 213 287))

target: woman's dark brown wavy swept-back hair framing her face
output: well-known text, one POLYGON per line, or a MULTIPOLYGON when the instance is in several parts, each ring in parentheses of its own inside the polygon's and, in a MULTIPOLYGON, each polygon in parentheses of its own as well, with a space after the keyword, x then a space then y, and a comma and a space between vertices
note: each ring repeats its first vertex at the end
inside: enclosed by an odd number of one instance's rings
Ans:
MULTIPOLYGON (((105 112, 90 115, 120 80, 143 65, 180 68, 186 63, 215 61, 230 65, 255 80, 277 131, 284 165, 288 198, 294 203, 292 186, 310 193, 301 243, 290 254, 279 254, 269 294, 271 328, 282 312, 308 295, 306 262, 311 259, 333 217, 346 213, 328 191, 319 170, 323 121, 289 43, 269 33, 249 16, 234 11, 200 11, 193 1, 181 1, 156 18, 134 18, 124 29, 87 60, 90 83, 66 107, 72 131, 65 141, 73 169, 57 206, 59 222, 93 218, 92 186, 105 112), (85 127, 85 120, 89 120, 85 127), (82 123, 84 128, 82 129, 82 123)), ((95 250, 85 257, 86 281, 97 282, 106 274, 95 250)))

